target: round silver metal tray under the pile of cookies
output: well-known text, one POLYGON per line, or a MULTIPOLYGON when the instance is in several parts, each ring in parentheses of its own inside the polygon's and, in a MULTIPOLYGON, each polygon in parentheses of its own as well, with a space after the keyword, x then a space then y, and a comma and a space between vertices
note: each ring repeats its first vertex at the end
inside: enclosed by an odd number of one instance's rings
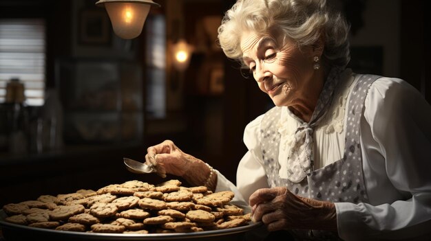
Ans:
POLYGON ((249 225, 220 229, 212 231, 200 231, 193 233, 148 233, 148 234, 122 234, 122 233, 87 233, 76 231, 57 231, 41 229, 25 225, 15 225, 6 222, 8 215, 0 209, 0 227, 4 238, 9 240, 242 240, 244 233, 257 229, 262 222, 250 222, 249 225), (223 236, 223 237, 220 237, 223 236))

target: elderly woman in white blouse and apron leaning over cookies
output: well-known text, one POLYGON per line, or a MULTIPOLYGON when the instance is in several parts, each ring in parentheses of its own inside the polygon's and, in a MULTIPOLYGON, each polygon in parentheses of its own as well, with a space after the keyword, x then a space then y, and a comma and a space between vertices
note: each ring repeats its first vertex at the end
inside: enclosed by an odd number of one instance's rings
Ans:
POLYGON ((275 104, 245 128, 236 186, 169 140, 148 148, 147 163, 233 190, 255 221, 298 239, 429 235, 431 107, 403 80, 345 68, 340 14, 324 0, 238 0, 218 32, 275 104))

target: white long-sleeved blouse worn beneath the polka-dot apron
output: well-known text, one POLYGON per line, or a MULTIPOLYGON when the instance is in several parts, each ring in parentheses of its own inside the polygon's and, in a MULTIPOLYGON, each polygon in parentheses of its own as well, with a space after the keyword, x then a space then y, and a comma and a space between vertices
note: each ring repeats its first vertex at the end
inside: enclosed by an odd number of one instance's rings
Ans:
MULTIPOLYGON (((347 70, 328 115, 313 132, 315 169, 343 157, 344 107, 357 75, 347 70)), ((299 125, 282 107, 279 160, 286 160, 292 132, 299 125)), ((257 189, 269 187, 260 150, 260 115, 244 131, 248 152, 238 165, 236 186, 218 172, 216 191, 233 190, 248 203, 257 189)), ((379 78, 370 87, 361 117, 364 181, 370 203, 335 203, 339 236, 344 240, 431 239, 431 106, 407 82, 379 78), (390 231, 390 232, 388 232, 390 231), (428 236, 428 238, 423 238, 428 236)), ((281 168, 285 164, 280 162, 281 168)), ((283 177, 283 176, 282 176, 283 177)))

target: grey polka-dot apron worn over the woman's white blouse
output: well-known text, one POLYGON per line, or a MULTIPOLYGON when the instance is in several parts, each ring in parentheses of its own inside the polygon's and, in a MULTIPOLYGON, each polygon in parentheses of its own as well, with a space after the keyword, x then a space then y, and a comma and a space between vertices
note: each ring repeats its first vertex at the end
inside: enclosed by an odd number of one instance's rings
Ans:
MULTIPOLYGON (((359 139, 360 120, 364 100, 370 84, 380 76, 361 75, 350 91, 346 126, 346 144, 344 157, 324 168, 313 170, 299 183, 293 183, 279 176, 280 164, 278 150, 280 133, 277 122, 281 108, 274 107, 268 111, 260 126, 262 159, 270 187, 288 187, 288 190, 299 196, 328 200, 331 202, 368 203, 362 173, 361 145, 359 139)), ((335 233, 317 230, 295 230, 295 236, 306 240, 339 240, 335 233)))

